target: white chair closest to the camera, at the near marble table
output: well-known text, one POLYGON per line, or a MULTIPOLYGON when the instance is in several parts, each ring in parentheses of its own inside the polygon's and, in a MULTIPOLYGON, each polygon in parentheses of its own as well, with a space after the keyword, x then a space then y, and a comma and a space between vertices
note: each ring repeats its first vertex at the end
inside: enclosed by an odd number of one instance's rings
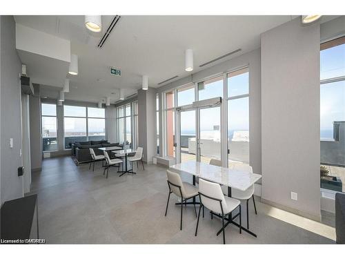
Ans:
MULTIPOLYGON (((197 227, 199 225, 201 207, 206 207, 213 213, 220 214, 222 223, 222 228, 220 231, 223 232, 223 243, 225 244, 226 226, 224 226, 224 219, 227 215, 239 207, 239 233, 242 233, 241 202, 239 202, 239 200, 224 196, 219 184, 215 182, 208 182, 203 179, 199 179, 199 198, 200 207, 199 215, 197 216, 197 227)), ((197 236, 197 228, 195 229, 195 236, 197 236)))

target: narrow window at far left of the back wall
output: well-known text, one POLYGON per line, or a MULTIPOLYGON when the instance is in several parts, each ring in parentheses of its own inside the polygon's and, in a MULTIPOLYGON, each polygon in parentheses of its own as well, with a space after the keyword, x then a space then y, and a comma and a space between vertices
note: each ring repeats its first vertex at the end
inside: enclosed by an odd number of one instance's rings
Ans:
POLYGON ((42 104, 42 150, 57 151, 57 106, 42 104))

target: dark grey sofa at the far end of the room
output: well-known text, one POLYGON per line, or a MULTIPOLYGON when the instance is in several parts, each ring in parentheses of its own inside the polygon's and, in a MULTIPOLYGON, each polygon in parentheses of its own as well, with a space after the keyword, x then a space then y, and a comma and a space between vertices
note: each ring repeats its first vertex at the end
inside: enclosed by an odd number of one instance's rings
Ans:
POLYGON ((96 155, 103 155, 103 151, 99 150, 98 148, 108 147, 108 146, 119 146, 119 147, 121 147, 121 145, 119 143, 109 143, 109 142, 103 141, 103 140, 99 141, 99 142, 91 141, 90 143, 87 143, 87 142, 75 143, 75 158, 76 158, 78 164, 90 162, 92 160, 89 148, 93 148, 96 155), (99 142, 101 142, 101 143, 99 143, 99 142))

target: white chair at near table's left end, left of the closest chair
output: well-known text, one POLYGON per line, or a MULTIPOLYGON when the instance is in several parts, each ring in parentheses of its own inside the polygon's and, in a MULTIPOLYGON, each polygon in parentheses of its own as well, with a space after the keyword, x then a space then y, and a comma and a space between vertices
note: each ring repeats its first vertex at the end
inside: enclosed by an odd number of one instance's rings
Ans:
MULTIPOLYGON (((166 202, 166 213, 168 211, 169 199, 170 194, 174 193, 177 197, 181 198, 181 223, 180 223, 180 230, 182 230, 182 208, 184 206, 184 202, 186 204, 187 200, 191 198, 195 198, 198 195, 197 187, 188 182, 182 182, 181 177, 178 173, 174 173, 170 170, 166 171, 166 175, 168 176, 168 186, 169 186, 169 195, 168 195, 168 202, 166 202)), ((195 217, 197 217, 197 209, 195 208, 194 203, 194 211, 195 217)), ((166 215, 166 214, 165 214, 166 215)))

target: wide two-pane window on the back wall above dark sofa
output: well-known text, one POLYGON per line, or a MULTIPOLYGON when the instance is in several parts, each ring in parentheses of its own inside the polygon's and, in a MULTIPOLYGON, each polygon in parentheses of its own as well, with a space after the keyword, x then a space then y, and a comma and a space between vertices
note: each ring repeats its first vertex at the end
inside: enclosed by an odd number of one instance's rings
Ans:
POLYGON ((104 140, 105 110, 85 106, 63 106, 65 148, 73 142, 104 140))

